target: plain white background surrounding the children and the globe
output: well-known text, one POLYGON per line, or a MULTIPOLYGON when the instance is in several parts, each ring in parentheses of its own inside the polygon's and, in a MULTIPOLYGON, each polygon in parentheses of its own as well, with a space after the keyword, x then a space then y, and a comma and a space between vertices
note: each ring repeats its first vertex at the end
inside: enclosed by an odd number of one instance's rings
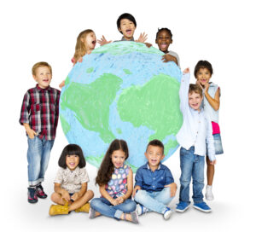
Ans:
MULTIPOLYGON (((255 12, 253 1, 1 1, 1 228, 4 231, 115 230, 155 231, 255 231, 255 12), (213 193, 208 202, 212 213, 192 207, 173 213, 169 221, 156 213, 140 217, 140 224, 117 222, 86 213, 49 217, 51 204, 26 201, 26 136, 19 125, 22 98, 35 85, 32 65, 47 61, 53 67, 51 86, 57 87, 72 68, 76 38, 91 28, 117 40, 119 14, 131 13, 137 20, 135 38, 148 33, 154 44, 158 27, 173 34, 170 49, 181 58, 182 69, 193 72, 199 60, 212 63, 212 81, 221 87, 220 126, 224 155, 218 157, 213 193), (254 229, 253 229, 254 227, 254 229)), ((98 45, 97 45, 98 46, 98 45)), ((193 76, 192 81, 194 82, 193 76)), ((57 160, 67 145, 61 125, 49 160, 44 183, 53 192, 57 160)), ((166 161, 179 186, 178 153, 166 161)), ((96 168, 87 165, 89 188, 99 195, 94 181, 96 168)), ((177 194, 178 195, 178 194, 177 194)), ((172 207, 178 198, 172 202, 172 207)))

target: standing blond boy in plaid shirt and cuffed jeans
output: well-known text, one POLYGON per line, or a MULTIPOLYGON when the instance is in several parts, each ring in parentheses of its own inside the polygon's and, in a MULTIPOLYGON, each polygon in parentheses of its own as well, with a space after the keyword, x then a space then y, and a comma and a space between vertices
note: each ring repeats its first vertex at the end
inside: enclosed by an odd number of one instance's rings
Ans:
POLYGON ((20 124, 24 125, 28 140, 28 202, 36 203, 38 197, 47 197, 41 183, 55 141, 61 91, 49 86, 52 71, 48 63, 36 63, 32 67, 32 76, 38 84, 26 91, 20 124))

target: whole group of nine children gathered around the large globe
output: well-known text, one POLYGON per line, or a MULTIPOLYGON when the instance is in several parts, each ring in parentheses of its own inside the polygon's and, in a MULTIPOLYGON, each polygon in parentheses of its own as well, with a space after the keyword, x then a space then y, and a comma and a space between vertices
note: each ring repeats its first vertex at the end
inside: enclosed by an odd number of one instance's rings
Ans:
MULTIPOLYGON (((137 23, 131 14, 121 14, 117 26, 123 34, 121 41, 144 43, 147 39, 147 35, 143 33, 134 40, 137 23)), ((111 41, 102 36, 98 43, 104 45, 111 41)), ((155 43, 165 53, 162 57, 164 62, 173 61, 180 67, 178 55, 168 50, 172 44, 172 32, 169 29, 158 30, 155 43)), ((95 33, 92 30, 81 32, 77 38, 73 64, 82 61, 83 56, 89 55, 95 46, 95 33)), ((210 82, 212 73, 212 65, 208 61, 199 61, 194 73, 196 84, 189 84, 189 68, 183 71, 179 90, 183 125, 177 133, 177 142, 181 145, 177 212, 184 212, 189 208, 191 177, 194 207, 202 212, 211 212, 211 208, 203 201, 202 194, 205 156, 207 154, 206 198, 213 200, 215 154, 223 154, 218 126, 220 89, 217 84, 210 82)), ((49 86, 52 70, 46 62, 36 63, 32 67, 32 76, 38 84, 27 90, 24 96, 20 124, 24 125, 28 140, 28 201, 36 203, 38 198, 47 197, 42 182, 55 141, 60 90, 49 86)), ((63 81, 60 87, 64 84, 63 81)), ((165 219, 170 218, 172 209, 168 205, 176 194, 177 184, 174 183, 172 172, 161 164, 165 157, 163 143, 157 139, 148 143, 145 151, 148 162, 137 170, 134 186, 131 168, 125 165, 128 157, 126 142, 115 139, 102 159, 96 177, 101 197, 92 199, 94 193, 87 189, 89 176, 85 169, 83 151, 76 144, 67 145, 59 159, 60 169, 55 177, 55 192, 51 195, 51 200, 56 205, 50 206, 49 215, 67 214, 71 211, 89 212, 90 218, 104 215, 133 223, 138 223, 138 215, 145 212, 159 212, 165 219)))

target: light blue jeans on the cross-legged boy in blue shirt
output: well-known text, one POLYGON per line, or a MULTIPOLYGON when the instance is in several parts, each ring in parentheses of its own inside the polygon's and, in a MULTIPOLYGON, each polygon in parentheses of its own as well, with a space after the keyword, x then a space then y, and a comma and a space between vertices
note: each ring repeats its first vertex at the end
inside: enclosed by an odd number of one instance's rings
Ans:
POLYGON ((166 211, 166 205, 169 205, 173 197, 171 197, 171 188, 163 188, 161 191, 155 191, 152 193, 146 190, 138 190, 135 194, 134 200, 137 203, 148 208, 149 211, 164 213, 166 211))

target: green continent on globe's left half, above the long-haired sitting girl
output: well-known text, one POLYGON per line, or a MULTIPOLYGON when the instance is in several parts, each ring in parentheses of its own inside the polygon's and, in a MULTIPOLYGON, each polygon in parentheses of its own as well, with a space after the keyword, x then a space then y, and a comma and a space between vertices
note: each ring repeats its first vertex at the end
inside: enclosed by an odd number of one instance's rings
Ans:
POLYGON ((122 79, 110 73, 90 84, 72 82, 61 96, 61 110, 71 109, 85 129, 99 132, 104 142, 112 142, 115 136, 108 129, 109 106, 120 84, 122 79))

